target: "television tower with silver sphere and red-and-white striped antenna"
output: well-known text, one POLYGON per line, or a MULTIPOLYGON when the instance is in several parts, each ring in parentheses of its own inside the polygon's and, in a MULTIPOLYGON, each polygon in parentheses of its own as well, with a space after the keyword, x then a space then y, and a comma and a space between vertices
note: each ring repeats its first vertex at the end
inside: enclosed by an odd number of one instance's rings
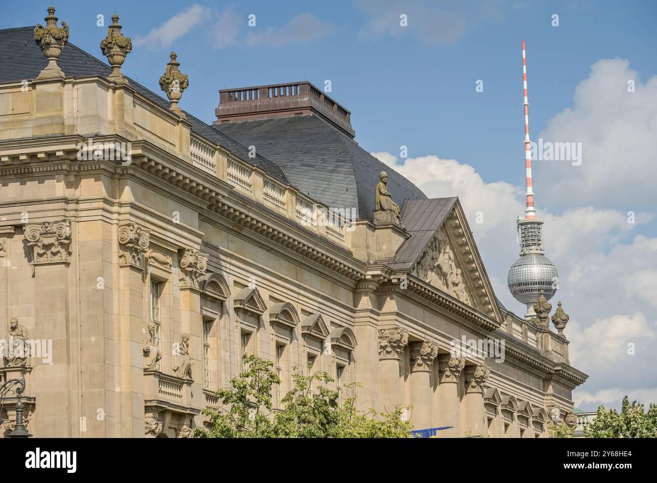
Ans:
POLYGON ((526 206, 524 216, 518 216, 517 241, 520 244, 520 258, 513 262, 509 269, 507 285, 511 294, 518 302, 527 306, 525 318, 535 315, 533 305, 538 301, 541 292, 550 300, 558 288, 559 274, 556 266, 545 257, 543 248, 543 220, 536 218, 536 208, 533 204, 532 188, 532 141, 530 141, 529 101, 527 100, 527 64, 525 57, 525 41, 522 41, 522 82, 524 91, 525 116, 525 168, 527 177, 526 206))

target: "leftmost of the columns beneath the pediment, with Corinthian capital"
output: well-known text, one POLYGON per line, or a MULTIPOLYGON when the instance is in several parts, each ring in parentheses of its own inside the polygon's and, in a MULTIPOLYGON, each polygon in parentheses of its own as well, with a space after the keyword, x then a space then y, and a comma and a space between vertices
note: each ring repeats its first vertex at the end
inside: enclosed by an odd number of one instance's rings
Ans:
POLYGON ((401 361, 409 334, 404 329, 378 331, 378 359, 381 371, 381 400, 385 411, 394 411, 402 404, 401 361), (390 405, 390 407, 388 407, 390 405))

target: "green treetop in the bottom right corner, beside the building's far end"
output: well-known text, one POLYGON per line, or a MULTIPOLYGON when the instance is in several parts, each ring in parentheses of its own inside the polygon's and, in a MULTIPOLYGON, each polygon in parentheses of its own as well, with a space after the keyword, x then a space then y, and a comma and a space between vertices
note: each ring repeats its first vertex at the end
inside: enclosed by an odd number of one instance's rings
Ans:
POLYGON ((625 396, 620 413, 601 405, 584 434, 587 438, 657 438, 657 404, 651 403, 645 412, 643 404, 630 404, 625 396))

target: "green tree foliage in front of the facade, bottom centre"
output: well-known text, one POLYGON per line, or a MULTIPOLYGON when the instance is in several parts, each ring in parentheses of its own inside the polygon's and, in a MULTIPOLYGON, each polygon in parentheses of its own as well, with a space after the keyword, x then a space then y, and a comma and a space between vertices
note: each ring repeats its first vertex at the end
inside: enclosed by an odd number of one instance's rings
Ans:
POLYGON ((292 375, 294 387, 281 410, 274 410, 271 390, 279 377, 273 363, 255 355, 244 356, 246 370, 231 379, 231 388, 220 389, 220 409, 206 408, 211 428, 197 427, 198 438, 408 438, 412 425, 402 421, 403 408, 392 413, 356 409, 356 390, 349 384, 343 400, 327 387, 334 381, 328 373, 317 371, 305 376, 292 375))

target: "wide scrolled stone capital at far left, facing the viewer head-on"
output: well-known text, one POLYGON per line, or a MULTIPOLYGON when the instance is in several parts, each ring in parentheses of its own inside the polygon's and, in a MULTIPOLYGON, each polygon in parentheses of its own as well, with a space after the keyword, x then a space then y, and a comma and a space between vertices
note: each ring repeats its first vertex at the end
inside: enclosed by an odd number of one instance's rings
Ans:
POLYGON ((32 246, 34 265, 68 264, 71 250, 71 225, 64 221, 44 221, 23 225, 28 246, 32 246))

